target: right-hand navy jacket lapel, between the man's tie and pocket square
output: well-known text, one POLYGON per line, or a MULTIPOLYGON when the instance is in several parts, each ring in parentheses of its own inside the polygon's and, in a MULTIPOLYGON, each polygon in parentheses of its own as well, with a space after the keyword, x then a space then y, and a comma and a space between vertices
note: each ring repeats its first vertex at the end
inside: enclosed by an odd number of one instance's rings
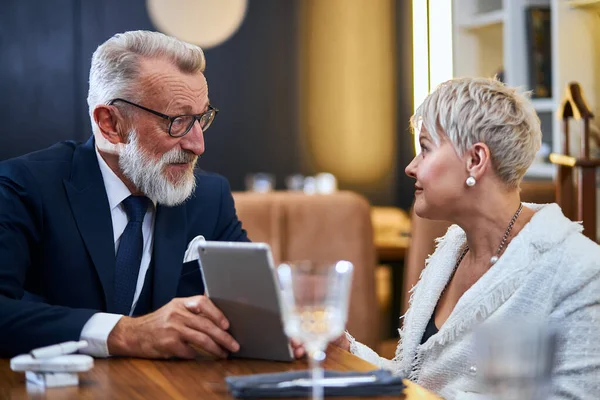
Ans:
POLYGON ((154 225, 154 282, 152 304, 158 309, 177 294, 186 249, 185 206, 159 205, 154 225))

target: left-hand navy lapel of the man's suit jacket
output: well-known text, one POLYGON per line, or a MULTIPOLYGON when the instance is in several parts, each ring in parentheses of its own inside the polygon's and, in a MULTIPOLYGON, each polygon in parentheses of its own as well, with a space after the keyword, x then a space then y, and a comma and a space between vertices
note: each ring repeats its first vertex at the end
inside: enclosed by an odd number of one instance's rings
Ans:
POLYGON ((63 184, 79 233, 92 259, 102 289, 106 310, 112 312, 115 247, 108 197, 98 166, 94 139, 77 147, 71 177, 63 184))

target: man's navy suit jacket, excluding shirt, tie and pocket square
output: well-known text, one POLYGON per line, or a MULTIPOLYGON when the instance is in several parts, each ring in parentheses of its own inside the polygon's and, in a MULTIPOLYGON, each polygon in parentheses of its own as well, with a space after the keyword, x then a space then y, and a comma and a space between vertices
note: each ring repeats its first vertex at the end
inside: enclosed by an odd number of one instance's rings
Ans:
MULTIPOLYGON (((183 205, 158 205, 151 309, 202 294, 188 243, 247 241, 227 181, 196 172, 183 205)), ((78 340, 99 311, 113 312, 115 249, 108 198, 91 138, 0 163, 0 357, 78 340)))

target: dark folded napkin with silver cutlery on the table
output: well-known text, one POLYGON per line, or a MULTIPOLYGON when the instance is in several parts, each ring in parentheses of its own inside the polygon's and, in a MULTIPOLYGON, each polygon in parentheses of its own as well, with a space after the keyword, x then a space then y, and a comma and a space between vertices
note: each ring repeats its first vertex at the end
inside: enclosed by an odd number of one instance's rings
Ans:
MULTIPOLYGON (((228 376, 229 390, 237 398, 307 397, 312 391, 310 371, 228 376)), ((325 396, 386 396, 402 393, 402 378, 387 370, 370 372, 325 371, 325 396)))

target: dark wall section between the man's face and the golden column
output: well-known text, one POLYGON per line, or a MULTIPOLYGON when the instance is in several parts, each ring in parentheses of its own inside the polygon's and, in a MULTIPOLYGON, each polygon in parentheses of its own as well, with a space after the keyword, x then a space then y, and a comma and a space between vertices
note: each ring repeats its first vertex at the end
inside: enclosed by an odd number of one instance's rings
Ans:
POLYGON ((274 173, 280 188, 287 175, 301 172, 297 6, 290 0, 251 1, 235 36, 206 51, 210 99, 221 111, 200 163, 228 171, 235 188, 243 188, 248 172, 274 173))

